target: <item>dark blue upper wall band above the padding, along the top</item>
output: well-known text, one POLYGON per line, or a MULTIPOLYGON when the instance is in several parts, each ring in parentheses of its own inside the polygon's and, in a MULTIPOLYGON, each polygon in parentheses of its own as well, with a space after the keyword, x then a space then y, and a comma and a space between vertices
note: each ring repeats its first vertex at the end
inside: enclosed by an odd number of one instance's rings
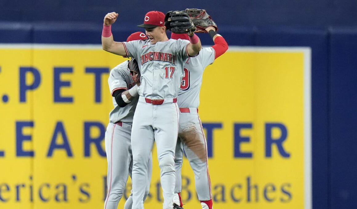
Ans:
POLYGON ((147 11, 186 8, 206 9, 218 25, 357 25, 357 1, 353 0, 206 0, 204 4, 189 0, 1 0, 0 21, 100 23, 105 14, 116 11, 121 21, 138 24, 147 11))

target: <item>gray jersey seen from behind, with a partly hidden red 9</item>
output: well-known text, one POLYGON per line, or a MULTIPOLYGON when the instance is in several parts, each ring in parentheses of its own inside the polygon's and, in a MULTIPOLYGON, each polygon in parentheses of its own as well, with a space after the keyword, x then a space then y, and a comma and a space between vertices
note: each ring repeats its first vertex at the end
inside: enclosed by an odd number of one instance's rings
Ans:
POLYGON ((196 57, 189 57, 184 67, 184 76, 178 92, 178 107, 195 107, 200 105, 200 90, 203 71, 215 61, 215 50, 203 47, 196 57))

